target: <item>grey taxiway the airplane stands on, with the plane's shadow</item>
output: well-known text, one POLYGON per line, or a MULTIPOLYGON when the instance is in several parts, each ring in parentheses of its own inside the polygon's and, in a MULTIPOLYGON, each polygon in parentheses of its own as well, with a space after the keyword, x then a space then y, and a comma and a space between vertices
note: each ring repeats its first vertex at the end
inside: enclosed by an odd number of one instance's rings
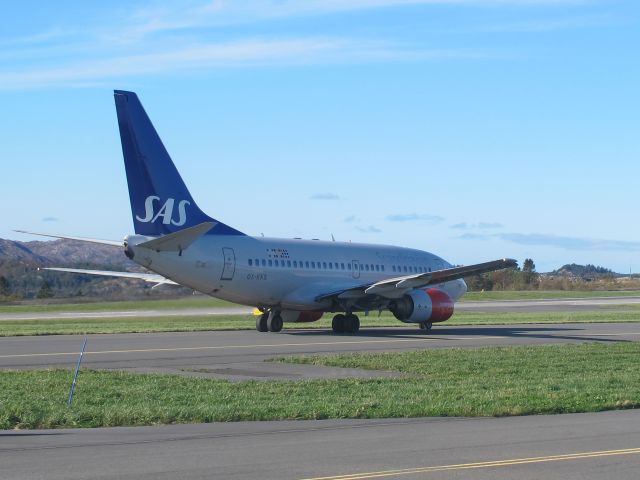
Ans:
MULTIPOLYGON (((341 376, 342 370, 286 366, 264 360, 292 354, 640 340, 640 323, 438 326, 424 334, 411 326, 363 329, 359 335, 327 330, 274 333, 221 331, 89 335, 83 365, 92 368, 162 371, 213 378, 341 376), (197 372, 196 372, 197 370, 197 372)), ((0 338, 0 369, 71 367, 82 337, 53 335, 0 338)), ((353 372, 351 372, 353 373, 353 372)))

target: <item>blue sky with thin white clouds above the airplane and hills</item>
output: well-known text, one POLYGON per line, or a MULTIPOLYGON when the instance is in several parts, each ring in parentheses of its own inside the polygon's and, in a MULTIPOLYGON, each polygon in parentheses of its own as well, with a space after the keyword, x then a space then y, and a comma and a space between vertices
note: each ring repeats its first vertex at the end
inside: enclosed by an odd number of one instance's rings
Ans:
POLYGON ((0 237, 131 233, 113 89, 249 234, 640 271, 640 5, 41 2, 0 17, 0 237))

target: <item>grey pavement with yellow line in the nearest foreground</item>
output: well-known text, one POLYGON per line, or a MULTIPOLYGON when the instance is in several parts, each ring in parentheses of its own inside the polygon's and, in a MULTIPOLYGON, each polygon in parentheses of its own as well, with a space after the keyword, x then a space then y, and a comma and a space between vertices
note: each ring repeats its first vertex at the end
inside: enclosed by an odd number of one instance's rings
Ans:
POLYGON ((0 479, 636 480, 640 411, 0 431, 0 479))

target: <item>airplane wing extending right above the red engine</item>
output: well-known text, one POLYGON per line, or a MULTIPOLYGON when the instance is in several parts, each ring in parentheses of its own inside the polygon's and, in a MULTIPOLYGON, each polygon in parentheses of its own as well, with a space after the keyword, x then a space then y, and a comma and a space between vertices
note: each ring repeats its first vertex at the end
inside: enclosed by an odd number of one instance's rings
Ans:
POLYGON ((399 298, 403 296, 407 290, 414 288, 428 287, 436 283, 450 282, 458 280, 467 275, 478 273, 493 272, 503 268, 512 268, 518 266, 518 262, 511 258, 503 258, 501 260, 493 260, 491 262, 476 263, 474 265, 465 265, 463 267, 445 268, 434 272, 417 273, 415 275, 405 275, 402 277, 388 278, 368 285, 361 285, 340 291, 327 293, 316 297, 316 301, 327 300, 330 298, 349 299, 362 298, 367 295, 379 295, 386 298, 399 298))

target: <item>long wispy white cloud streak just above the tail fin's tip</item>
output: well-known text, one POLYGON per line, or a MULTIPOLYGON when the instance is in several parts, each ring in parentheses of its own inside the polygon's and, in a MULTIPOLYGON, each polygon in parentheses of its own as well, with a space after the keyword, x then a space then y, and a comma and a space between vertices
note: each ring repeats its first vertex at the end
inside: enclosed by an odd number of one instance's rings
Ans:
POLYGON ((308 65, 438 58, 480 58, 471 50, 413 50, 399 45, 344 38, 248 39, 185 45, 137 55, 105 55, 75 63, 0 72, 0 89, 78 86, 118 77, 179 73, 196 69, 264 65, 308 65))

